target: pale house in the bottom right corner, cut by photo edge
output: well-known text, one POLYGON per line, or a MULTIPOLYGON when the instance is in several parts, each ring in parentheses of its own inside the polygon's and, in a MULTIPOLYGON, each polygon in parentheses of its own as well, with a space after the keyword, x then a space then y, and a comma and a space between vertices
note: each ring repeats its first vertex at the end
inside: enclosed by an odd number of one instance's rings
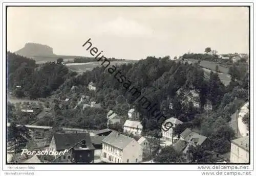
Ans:
POLYGON ((230 163, 248 163, 249 155, 249 136, 231 141, 230 163))

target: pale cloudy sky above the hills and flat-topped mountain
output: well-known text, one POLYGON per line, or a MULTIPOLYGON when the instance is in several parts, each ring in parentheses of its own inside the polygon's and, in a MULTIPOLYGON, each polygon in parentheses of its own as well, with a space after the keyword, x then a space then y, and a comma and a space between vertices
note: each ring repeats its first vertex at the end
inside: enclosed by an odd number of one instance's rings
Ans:
POLYGON ((246 7, 8 7, 7 50, 28 42, 57 55, 91 56, 83 43, 107 58, 249 53, 246 7))

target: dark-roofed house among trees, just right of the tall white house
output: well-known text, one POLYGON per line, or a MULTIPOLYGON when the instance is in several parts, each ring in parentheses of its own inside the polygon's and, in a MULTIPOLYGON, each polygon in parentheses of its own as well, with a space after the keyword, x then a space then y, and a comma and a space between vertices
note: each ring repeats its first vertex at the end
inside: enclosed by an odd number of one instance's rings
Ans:
POLYGON ((174 144, 174 149, 176 152, 186 155, 189 146, 202 146, 204 149, 208 149, 210 141, 208 137, 186 129, 180 134, 180 139, 174 144))

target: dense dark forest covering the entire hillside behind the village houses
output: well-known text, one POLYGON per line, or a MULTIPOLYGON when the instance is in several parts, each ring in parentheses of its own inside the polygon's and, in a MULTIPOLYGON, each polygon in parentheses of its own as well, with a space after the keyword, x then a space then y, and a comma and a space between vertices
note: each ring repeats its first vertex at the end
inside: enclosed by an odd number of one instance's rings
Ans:
MULTIPOLYGON (((106 73, 103 66, 76 76, 76 73, 70 72, 62 64, 51 62, 36 67, 33 60, 8 53, 8 60, 11 58, 24 60, 8 62, 11 68, 8 88, 15 96, 37 98, 47 97, 52 93, 52 97, 60 99, 72 97, 73 101, 70 100, 67 106, 69 108, 56 107, 55 117, 44 119, 49 125, 105 128, 106 112, 113 110, 125 117, 129 109, 134 107, 141 114, 144 133, 161 129, 161 124, 153 114, 135 101, 135 97, 114 76, 106 73), (96 92, 87 88, 90 82, 96 86, 96 92), (17 85, 21 88, 17 88, 17 85), (71 91, 73 86, 76 86, 76 90, 71 91), (78 107, 74 110, 81 95, 90 95, 95 102, 101 103, 102 108, 82 110, 78 107)), ((228 125, 230 116, 249 98, 249 73, 243 65, 232 64, 229 69, 231 82, 228 86, 221 82, 218 73, 210 72, 210 77, 205 78, 204 70, 198 63, 177 62, 169 57, 147 57, 135 64, 117 67, 167 118, 176 117, 184 122, 182 127, 177 128, 177 135, 185 128, 197 129, 202 135, 209 137, 215 152, 225 153, 230 150, 230 140, 234 137, 234 132, 228 125), (193 106, 193 102, 184 103, 185 95, 178 95, 179 89, 199 92, 200 107, 193 106), (205 110, 206 102, 212 105, 212 110, 205 110), (170 104, 172 108, 169 107, 170 104)), ((45 121, 41 120, 38 125, 45 125, 45 121)))

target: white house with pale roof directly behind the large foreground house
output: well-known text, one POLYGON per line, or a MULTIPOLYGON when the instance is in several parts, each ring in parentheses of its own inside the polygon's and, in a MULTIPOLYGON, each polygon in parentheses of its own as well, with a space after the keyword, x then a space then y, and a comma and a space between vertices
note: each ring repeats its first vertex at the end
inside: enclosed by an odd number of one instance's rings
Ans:
POLYGON ((142 134, 142 124, 139 121, 126 120, 123 125, 123 133, 140 136, 142 134))

